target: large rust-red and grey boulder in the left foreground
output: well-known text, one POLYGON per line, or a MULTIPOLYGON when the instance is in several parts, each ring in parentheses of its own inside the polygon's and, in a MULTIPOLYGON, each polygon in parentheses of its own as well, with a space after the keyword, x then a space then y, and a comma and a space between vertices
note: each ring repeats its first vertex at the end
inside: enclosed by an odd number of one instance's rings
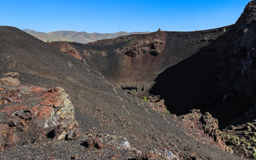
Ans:
POLYGON ((0 147, 71 140, 80 131, 74 106, 62 88, 20 86, 19 74, 0 79, 0 147))

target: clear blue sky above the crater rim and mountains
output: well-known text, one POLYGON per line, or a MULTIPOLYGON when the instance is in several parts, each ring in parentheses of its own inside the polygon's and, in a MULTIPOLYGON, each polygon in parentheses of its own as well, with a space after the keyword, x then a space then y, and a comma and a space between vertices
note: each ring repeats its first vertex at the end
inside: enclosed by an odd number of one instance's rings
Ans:
POLYGON ((36 31, 195 31, 234 24, 250 0, 0 0, 0 26, 36 31))

